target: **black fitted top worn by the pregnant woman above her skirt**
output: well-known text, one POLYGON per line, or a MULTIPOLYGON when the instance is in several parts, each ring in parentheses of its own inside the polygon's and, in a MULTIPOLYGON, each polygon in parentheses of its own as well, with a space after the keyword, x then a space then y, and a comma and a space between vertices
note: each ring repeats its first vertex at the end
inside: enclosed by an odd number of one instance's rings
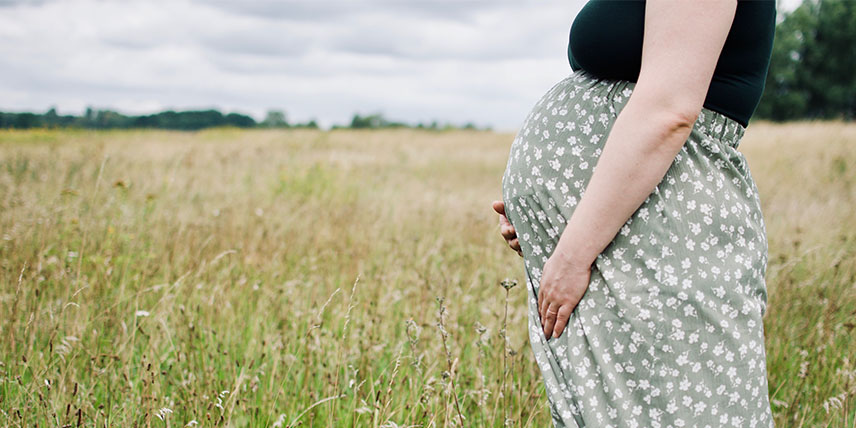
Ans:
MULTIPOLYGON (((644 0, 589 0, 571 25, 571 68, 635 82, 642 64, 644 23, 644 0)), ((775 27, 775 0, 737 2, 704 107, 748 125, 764 92, 775 27)))

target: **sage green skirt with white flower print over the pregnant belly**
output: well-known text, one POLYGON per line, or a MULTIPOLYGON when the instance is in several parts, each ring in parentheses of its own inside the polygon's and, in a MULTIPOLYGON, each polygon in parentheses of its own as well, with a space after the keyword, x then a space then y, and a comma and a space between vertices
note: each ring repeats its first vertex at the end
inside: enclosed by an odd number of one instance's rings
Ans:
POLYGON ((564 333, 547 339, 541 270, 634 82, 576 71, 535 105, 502 177, 528 290, 529 339, 556 427, 773 427, 767 237, 737 146, 702 109, 662 181, 598 255, 564 333))

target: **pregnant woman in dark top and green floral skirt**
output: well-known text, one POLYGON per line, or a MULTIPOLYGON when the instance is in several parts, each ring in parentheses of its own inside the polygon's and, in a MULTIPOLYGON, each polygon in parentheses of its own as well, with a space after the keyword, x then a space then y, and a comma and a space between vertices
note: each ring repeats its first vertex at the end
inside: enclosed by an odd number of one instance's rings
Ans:
POLYGON ((773 427, 767 238, 737 151, 774 1, 590 0, 502 177, 557 427, 773 427), (644 30, 644 31, 643 31, 644 30))

